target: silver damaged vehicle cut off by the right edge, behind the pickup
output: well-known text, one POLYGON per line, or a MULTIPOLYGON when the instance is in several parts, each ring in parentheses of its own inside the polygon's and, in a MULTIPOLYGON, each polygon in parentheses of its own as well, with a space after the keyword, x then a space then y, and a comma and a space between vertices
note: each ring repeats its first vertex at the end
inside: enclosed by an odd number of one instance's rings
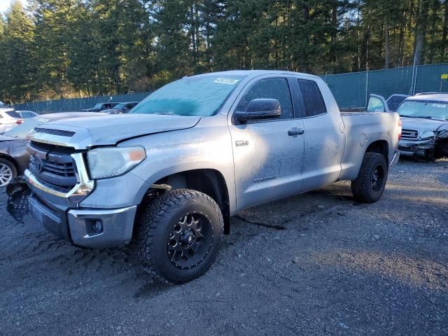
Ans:
POLYGON ((416 94, 397 109, 402 155, 426 160, 448 156, 448 94, 416 94))

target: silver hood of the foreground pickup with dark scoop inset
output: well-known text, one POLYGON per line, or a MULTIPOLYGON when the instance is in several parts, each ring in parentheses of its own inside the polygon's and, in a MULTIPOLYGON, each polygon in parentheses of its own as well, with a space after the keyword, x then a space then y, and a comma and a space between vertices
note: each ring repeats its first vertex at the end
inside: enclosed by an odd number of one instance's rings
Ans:
POLYGON ((116 145, 144 135, 185 130, 195 127, 201 118, 155 114, 118 114, 59 120, 36 127, 28 138, 35 141, 85 149, 116 145))

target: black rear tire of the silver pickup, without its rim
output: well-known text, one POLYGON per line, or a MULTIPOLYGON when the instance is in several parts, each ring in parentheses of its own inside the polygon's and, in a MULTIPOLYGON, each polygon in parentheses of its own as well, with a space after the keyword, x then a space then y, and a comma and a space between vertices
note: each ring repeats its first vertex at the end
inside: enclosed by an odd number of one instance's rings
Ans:
POLYGON ((381 198, 387 182, 388 167, 386 158, 379 153, 365 153, 358 177, 351 181, 353 198, 360 203, 374 203, 381 198), (371 178, 376 167, 381 166, 384 172, 383 181, 379 190, 372 190, 371 178))

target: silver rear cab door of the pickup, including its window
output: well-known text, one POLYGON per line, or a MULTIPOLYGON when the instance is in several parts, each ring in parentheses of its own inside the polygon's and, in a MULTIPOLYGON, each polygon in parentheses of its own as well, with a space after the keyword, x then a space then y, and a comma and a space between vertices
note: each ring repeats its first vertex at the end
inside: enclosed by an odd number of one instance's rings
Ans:
POLYGON ((295 81, 298 104, 304 111, 305 155, 303 190, 312 190, 337 180, 344 154, 344 124, 338 111, 328 111, 318 83, 309 78, 295 81))

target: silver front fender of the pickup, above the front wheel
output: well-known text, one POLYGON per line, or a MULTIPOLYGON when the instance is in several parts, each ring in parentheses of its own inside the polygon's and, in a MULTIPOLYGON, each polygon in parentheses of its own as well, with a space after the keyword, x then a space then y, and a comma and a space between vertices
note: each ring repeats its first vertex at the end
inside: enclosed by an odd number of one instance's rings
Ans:
POLYGON ((95 190, 80 204, 82 207, 99 204, 106 208, 131 207, 141 203, 151 184, 166 176, 195 169, 214 169, 225 180, 230 212, 235 212, 233 153, 225 116, 202 118, 196 127, 188 130, 139 137, 124 141, 120 146, 144 146, 146 159, 124 176, 98 180, 95 190), (111 198, 116 201, 111 202, 111 198))

